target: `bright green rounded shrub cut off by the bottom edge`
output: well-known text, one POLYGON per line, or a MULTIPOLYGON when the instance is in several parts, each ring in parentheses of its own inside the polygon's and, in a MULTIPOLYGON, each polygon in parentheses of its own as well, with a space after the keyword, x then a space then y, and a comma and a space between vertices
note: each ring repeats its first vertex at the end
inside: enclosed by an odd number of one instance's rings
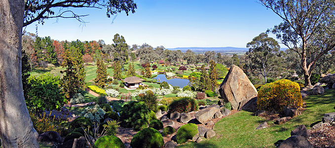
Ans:
POLYGON ((115 136, 100 137, 95 143, 94 148, 125 148, 121 139, 115 136))

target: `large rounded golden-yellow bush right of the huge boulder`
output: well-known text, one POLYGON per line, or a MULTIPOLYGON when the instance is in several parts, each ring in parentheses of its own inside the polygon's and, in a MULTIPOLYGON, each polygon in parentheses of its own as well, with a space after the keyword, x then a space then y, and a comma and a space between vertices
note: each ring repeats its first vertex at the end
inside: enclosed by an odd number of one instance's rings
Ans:
POLYGON ((300 108, 302 97, 299 84, 288 79, 263 85, 257 95, 257 108, 265 111, 282 112, 285 106, 300 108))

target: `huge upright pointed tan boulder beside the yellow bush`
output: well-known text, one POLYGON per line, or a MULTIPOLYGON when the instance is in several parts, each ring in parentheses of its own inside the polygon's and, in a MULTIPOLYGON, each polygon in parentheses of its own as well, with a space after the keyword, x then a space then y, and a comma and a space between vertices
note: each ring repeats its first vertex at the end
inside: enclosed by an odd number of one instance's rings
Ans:
POLYGON ((230 102, 233 110, 241 110, 249 100, 257 97, 258 94, 248 76, 236 65, 230 67, 220 85, 219 92, 225 102, 230 102))

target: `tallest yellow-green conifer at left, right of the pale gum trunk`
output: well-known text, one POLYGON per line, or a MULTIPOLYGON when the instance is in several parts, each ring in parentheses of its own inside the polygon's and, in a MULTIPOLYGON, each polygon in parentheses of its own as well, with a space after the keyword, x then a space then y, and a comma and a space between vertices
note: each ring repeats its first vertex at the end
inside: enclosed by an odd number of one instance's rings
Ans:
POLYGON ((62 74, 65 73, 62 78, 62 86, 65 97, 69 102, 74 94, 85 87, 84 61, 78 48, 71 46, 66 49, 62 66, 66 68, 65 71, 61 71, 62 74))

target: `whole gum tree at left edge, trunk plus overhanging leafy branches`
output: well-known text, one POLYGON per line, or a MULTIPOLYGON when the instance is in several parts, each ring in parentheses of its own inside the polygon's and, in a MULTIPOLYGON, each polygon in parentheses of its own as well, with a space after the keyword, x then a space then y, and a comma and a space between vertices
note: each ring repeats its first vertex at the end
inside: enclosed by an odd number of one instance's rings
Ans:
POLYGON ((3 148, 38 148, 21 80, 22 27, 49 18, 81 17, 68 8, 107 8, 107 17, 135 12, 133 0, 0 0, 0 138, 3 148), (59 9, 55 13, 53 10, 59 9), (66 8, 66 9, 62 9, 66 8))

